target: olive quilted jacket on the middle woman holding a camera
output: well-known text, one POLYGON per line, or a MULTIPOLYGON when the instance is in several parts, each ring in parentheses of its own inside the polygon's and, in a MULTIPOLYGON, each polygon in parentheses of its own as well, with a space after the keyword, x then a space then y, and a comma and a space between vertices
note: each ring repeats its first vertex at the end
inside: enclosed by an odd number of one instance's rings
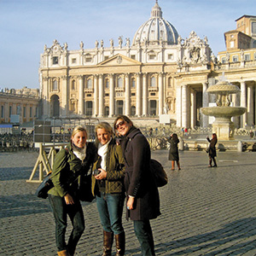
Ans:
MULTIPOLYGON (((98 162, 101 160, 101 156, 97 156, 97 160, 93 164, 93 170, 97 169, 98 162)), ((105 179, 106 193, 125 193, 125 187, 123 179, 125 177, 125 160, 122 153, 122 148, 116 145, 112 139, 108 144, 107 163, 106 163, 107 177, 105 179)), ((93 195, 98 192, 98 186, 96 184, 96 178, 91 177, 91 191, 93 195)))

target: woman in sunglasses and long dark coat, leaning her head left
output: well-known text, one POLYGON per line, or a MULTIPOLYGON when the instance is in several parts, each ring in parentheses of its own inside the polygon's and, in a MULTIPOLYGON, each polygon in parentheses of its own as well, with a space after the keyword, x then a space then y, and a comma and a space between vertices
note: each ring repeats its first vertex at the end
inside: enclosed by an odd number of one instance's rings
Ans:
POLYGON ((125 158, 126 218, 133 221, 142 255, 155 255, 150 219, 160 215, 160 198, 149 168, 151 152, 148 140, 125 115, 115 119, 113 128, 123 136, 121 147, 125 158))

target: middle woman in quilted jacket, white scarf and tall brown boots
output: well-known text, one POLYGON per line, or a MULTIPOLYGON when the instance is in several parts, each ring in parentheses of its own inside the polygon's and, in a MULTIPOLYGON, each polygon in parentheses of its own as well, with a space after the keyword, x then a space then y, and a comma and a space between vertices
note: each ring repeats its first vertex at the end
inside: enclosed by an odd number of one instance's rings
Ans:
POLYGON ((122 148, 113 138, 113 129, 107 122, 96 125, 97 160, 93 165, 92 193, 103 227, 103 254, 111 255, 113 235, 116 255, 125 255, 125 231, 122 215, 125 202, 125 164, 122 148))

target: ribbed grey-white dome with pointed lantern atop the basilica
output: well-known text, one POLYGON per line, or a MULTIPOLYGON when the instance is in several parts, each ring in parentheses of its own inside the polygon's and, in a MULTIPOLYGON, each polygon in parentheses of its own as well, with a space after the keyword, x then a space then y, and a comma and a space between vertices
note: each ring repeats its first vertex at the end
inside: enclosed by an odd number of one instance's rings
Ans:
POLYGON ((162 10, 156 0, 151 17, 140 26, 133 38, 132 45, 177 44, 178 33, 172 24, 162 17, 162 10))

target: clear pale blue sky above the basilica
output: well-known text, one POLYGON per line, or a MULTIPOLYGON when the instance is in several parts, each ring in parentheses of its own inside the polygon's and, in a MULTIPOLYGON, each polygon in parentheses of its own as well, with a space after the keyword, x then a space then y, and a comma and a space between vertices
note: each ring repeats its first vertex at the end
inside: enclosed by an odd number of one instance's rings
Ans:
MULTIPOLYGON (((68 49, 105 47, 119 36, 132 38, 150 18, 155 0, 0 0, 0 89, 39 88, 38 67, 44 44, 54 39, 68 49)), ((224 50, 224 32, 236 19, 256 15, 255 0, 159 0, 163 17, 182 38, 195 31, 207 36, 215 55, 224 50)))

